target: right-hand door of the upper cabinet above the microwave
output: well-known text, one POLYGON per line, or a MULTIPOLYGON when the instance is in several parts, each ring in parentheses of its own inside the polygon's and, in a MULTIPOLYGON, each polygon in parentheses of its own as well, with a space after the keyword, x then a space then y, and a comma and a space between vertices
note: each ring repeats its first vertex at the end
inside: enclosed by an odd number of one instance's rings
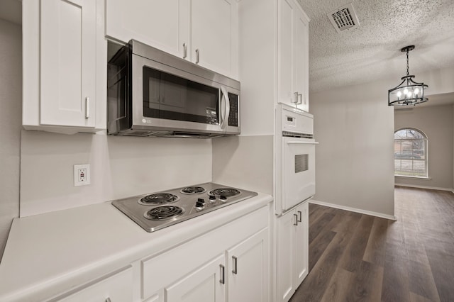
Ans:
POLYGON ((238 72, 238 3, 191 1, 192 62, 227 76, 238 72))

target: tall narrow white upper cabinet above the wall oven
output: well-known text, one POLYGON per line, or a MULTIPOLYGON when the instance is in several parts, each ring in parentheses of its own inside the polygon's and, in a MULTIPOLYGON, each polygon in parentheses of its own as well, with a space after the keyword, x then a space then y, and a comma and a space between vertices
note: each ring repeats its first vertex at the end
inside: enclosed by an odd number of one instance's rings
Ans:
POLYGON ((309 18, 296 0, 278 11, 278 101, 309 111, 309 18))

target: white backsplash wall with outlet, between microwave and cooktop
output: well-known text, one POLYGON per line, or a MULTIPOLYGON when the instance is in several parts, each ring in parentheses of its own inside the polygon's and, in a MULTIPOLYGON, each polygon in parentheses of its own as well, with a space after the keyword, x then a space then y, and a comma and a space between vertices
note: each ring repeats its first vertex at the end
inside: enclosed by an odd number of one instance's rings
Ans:
POLYGON ((211 140, 22 133, 21 217, 211 181, 211 140), (90 164, 91 184, 73 184, 90 164))

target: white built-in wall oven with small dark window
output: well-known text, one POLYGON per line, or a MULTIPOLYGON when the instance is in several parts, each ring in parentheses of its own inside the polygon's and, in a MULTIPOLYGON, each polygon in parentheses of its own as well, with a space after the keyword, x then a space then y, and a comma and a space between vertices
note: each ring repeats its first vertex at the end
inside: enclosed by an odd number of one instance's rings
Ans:
POLYGON ((300 109, 277 106, 276 214, 291 210, 315 194, 314 116, 300 109))

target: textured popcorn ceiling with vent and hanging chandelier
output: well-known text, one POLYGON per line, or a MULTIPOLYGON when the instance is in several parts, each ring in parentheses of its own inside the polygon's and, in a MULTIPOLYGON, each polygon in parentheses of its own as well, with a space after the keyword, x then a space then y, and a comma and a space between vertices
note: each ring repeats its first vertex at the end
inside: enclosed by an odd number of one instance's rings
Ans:
MULTIPOLYGON (((309 23, 309 89, 396 79, 454 66, 453 0, 298 0, 309 23), (353 3, 360 26, 337 33, 327 13, 353 3)), ((430 83, 429 88, 430 88, 430 83)), ((390 87, 391 88, 391 87, 390 87)))

